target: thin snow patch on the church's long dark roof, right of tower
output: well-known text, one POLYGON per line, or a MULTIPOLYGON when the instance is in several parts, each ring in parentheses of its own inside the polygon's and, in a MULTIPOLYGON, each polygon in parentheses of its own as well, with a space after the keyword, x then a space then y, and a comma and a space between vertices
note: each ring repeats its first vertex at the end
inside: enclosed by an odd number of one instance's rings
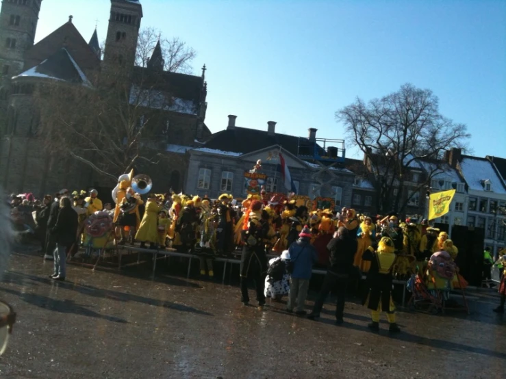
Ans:
POLYGON ((131 105, 141 107, 197 115, 197 107, 192 100, 173 97, 168 92, 160 90, 140 89, 136 85, 131 86, 129 102, 131 105))

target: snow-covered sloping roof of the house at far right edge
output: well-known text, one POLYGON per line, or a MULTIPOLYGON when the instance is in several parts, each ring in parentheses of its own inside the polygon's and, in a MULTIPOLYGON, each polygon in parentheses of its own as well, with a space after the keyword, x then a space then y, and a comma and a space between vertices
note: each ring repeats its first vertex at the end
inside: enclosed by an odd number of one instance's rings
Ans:
POLYGON ((492 192, 506 194, 506 189, 503 187, 501 179, 488 159, 464 156, 460 161, 460 168, 470 189, 483 191, 483 181, 490 180, 492 192))

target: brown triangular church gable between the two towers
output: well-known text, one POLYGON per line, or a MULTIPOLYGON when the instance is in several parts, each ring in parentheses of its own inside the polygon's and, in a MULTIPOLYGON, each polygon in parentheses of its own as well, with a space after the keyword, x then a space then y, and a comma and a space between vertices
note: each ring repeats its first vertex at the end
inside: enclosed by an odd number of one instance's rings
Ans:
POLYGON ((83 70, 95 70, 100 60, 90 45, 70 21, 43 38, 25 53, 27 68, 31 68, 65 47, 83 70))

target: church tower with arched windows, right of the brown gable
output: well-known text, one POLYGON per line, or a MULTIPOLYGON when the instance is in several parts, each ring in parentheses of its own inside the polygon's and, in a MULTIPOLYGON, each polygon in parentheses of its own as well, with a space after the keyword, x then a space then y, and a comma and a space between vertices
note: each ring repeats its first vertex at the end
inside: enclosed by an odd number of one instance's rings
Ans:
POLYGON ((139 0, 111 0, 103 63, 106 70, 131 69, 136 60, 142 5, 139 0))

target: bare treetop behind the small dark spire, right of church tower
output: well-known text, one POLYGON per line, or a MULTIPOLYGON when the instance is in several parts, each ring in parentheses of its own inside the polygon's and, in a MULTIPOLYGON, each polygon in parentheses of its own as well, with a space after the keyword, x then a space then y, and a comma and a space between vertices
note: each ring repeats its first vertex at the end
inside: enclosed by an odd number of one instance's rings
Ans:
POLYGON ((197 56, 194 49, 177 37, 172 39, 162 37, 160 31, 153 27, 144 28, 139 33, 136 65, 141 67, 147 66, 158 40, 160 40, 160 47, 162 48, 162 55, 164 57, 164 70, 171 73, 191 74, 191 64, 197 56))

